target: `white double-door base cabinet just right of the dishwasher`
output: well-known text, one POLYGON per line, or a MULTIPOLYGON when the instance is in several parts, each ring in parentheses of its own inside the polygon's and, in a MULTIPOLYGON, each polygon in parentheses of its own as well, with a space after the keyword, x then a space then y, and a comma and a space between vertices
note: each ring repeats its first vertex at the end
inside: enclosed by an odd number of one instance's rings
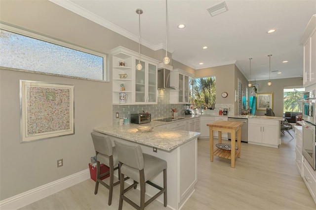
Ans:
POLYGON ((280 122, 278 120, 248 119, 248 143, 278 146, 280 122))

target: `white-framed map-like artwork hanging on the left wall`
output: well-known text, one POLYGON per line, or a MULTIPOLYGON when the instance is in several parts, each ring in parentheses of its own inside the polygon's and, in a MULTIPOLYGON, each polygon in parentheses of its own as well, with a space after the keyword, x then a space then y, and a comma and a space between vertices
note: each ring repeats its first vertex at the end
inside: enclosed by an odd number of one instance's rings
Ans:
POLYGON ((21 142, 74 134, 74 85, 20 80, 21 142))

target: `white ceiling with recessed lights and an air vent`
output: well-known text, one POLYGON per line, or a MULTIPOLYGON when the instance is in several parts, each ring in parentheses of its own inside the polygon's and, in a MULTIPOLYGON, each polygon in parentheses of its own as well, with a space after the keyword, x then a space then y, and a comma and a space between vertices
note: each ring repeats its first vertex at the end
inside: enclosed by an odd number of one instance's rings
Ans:
MULTIPOLYGON (((165 0, 50 1, 136 42, 141 8, 141 44, 165 49, 165 0)), ((194 69, 236 63, 253 81, 269 79, 272 54, 271 79, 302 77, 301 37, 316 14, 316 0, 226 0, 228 11, 211 16, 206 9, 220 2, 168 0, 167 50, 173 59, 194 69), (270 29, 276 32, 268 34, 270 29)))

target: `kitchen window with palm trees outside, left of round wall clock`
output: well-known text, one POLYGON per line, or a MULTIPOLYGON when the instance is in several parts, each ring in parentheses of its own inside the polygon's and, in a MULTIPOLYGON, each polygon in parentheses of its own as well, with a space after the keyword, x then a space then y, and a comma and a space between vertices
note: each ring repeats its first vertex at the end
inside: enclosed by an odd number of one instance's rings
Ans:
POLYGON ((190 104, 195 108, 215 109, 215 76, 190 78, 190 104))

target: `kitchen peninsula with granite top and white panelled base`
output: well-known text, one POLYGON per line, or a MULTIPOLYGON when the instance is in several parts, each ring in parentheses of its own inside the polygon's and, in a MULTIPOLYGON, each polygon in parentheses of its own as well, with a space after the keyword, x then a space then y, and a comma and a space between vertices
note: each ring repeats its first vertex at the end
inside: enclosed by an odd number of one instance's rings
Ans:
MULTIPOLYGON (((151 122, 146 126, 157 126, 151 122)), ((197 137, 200 133, 154 127, 151 132, 140 132, 141 125, 107 126, 94 128, 94 131, 107 134, 112 140, 120 139, 140 144, 143 153, 159 157, 167 161, 167 196, 168 207, 179 210, 191 194, 197 183, 197 137), (190 170, 188 170, 190 167, 190 170)), ((153 180, 162 184, 162 173, 153 180)), ((146 193, 156 194, 155 188, 147 185, 146 193)), ((163 203, 163 197, 157 199, 163 203)))

